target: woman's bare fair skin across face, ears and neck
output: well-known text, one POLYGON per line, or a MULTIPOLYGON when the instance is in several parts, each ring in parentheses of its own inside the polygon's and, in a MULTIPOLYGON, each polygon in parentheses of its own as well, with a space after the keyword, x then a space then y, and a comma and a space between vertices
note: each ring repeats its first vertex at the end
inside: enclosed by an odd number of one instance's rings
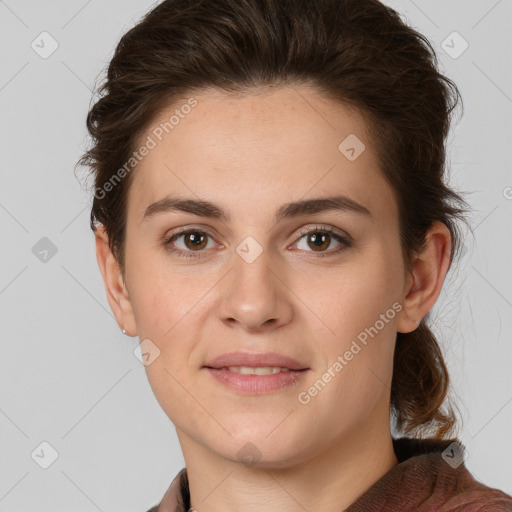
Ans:
MULTIPOLYGON (((389 417, 396 333, 416 329, 437 300, 450 233, 433 224, 406 272, 396 199, 357 111, 305 85, 194 97, 197 106, 133 171, 126 279, 105 231, 96 233, 109 304, 121 328, 160 350, 146 372, 176 427, 195 509, 252 512, 271 503, 272 510, 339 512, 398 463, 389 417), (349 134, 366 145, 354 161, 338 150, 349 134), (282 204, 334 193, 372 216, 323 212, 274 225, 282 204), (211 201, 232 218, 166 212, 142 221, 167 194, 211 201), (164 246, 165 235, 187 226, 210 235, 203 258, 164 246), (352 245, 335 253, 341 243, 331 238, 319 252, 300 234, 322 227, 349 235, 352 245), (262 248, 252 263, 236 252, 247 236, 262 248), (401 311, 308 404, 299 403, 298 393, 394 303, 401 311), (298 387, 241 395, 202 368, 234 350, 275 351, 310 370, 298 387), (253 465, 237 455, 249 442, 261 454, 253 465)), ((198 251, 186 236, 174 248, 198 251)))

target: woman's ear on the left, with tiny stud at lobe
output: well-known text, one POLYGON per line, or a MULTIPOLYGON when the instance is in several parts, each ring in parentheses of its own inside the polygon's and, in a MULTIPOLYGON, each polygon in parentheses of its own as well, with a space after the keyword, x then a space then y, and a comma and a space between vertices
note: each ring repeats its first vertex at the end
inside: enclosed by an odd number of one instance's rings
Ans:
POLYGON ((96 228, 94 234, 96 238, 96 258, 101 275, 103 276, 110 308, 116 317, 119 327, 126 329, 128 336, 136 336, 137 325, 128 289, 126 288, 119 263, 108 245, 108 234, 105 226, 101 224, 96 228))

